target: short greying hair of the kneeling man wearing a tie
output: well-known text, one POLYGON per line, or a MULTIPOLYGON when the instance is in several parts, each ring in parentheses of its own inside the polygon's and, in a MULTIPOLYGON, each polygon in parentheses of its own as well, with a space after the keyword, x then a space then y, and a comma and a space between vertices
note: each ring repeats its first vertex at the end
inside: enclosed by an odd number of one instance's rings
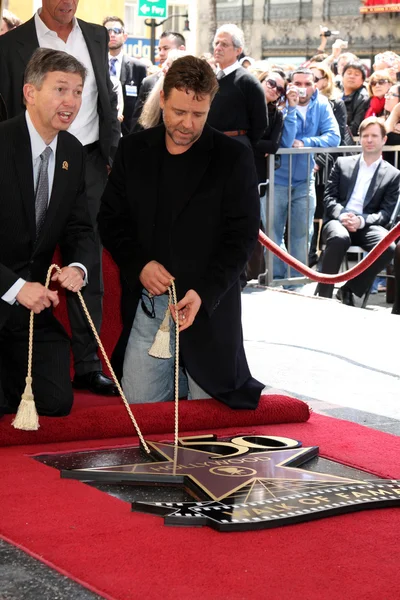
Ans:
POLYGON ((62 50, 38 48, 32 54, 25 69, 24 84, 31 83, 35 88, 40 89, 47 73, 54 71, 76 73, 82 77, 82 84, 85 83, 87 71, 74 56, 62 50))

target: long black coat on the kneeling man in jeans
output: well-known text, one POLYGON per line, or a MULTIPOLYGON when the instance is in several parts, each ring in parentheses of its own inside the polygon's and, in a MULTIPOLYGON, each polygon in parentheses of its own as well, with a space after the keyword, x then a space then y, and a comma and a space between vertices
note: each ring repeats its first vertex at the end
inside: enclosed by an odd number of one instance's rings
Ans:
MULTIPOLYGON (((120 362, 141 294, 139 275, 154 259, 164 148, 163 125, 122 138, 98 216, 102 242, 122 276, 120 362)), ((183 361, 214 398, 255 408, 263 385, 251 377, 244 354, 239 283, 260 223, 252 152, 208 125, 190 152, 189 183, 174 202, 169 248, 178 299, 189 289, 202 299, 180 338, 183 361)))

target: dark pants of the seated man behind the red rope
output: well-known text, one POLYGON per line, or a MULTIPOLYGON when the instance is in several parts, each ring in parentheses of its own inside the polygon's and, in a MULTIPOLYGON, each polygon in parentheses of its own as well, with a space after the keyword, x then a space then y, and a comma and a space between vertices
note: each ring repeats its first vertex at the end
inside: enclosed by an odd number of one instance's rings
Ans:
MULTIPOLYGON (((387 230, 380 225, 366 225, 350 233, 340 221, 329 221, 322 230, 322 243, 325 250, 322 255, 321 271, 323 273, 338 273, 346 252, 350 246, 361 246, 369 252, 387 234, 387 230)), ((391 244, 387 250, 366 271, 349 280, 346 287, 356 296, 361 297, 369 289, 375 277, 392 260, 395 245, 391 244)), ((332 298, 333 285, 319 283, 317 294, 324 298, 332 298)))

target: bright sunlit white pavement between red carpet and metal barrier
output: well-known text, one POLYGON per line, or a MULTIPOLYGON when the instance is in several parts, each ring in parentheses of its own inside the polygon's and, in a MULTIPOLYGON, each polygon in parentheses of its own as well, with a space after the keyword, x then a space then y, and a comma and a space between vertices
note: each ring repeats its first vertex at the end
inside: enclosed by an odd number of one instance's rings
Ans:
POLYGON ((400 316, 385 293, 366 309, 248 285, 242 293, 247 357, 255 377, 319 413, 400 435, 400 316))

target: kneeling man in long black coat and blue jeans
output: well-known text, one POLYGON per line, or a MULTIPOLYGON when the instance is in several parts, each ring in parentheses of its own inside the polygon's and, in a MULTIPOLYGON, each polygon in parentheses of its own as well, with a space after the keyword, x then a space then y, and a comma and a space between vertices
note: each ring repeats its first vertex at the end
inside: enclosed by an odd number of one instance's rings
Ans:
POLYGON ((181 395, 255 408, 263 388, 244 353, 239 283, 257 240, 257 176, 251 150, 206 125, 217 89, 205 61, 174 61, 161 92, 164 125, 121 140, 102 198, 100 235, 123 284, 124 330, 114 358, 123 358, 131 403, 174 395, 174 359, 148 354, 172 279, 181 395))

